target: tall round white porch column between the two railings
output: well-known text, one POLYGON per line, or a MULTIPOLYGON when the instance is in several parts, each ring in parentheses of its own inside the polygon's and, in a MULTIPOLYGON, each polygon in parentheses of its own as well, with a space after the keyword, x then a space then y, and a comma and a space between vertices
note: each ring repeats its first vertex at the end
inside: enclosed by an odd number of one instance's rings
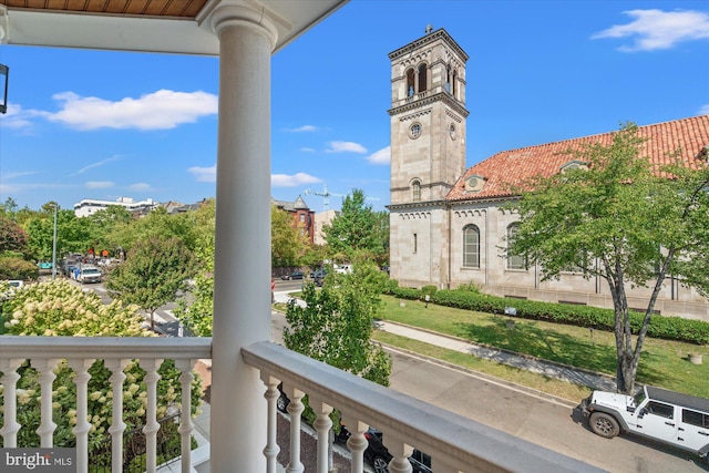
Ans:
POLYGON ((270 339, 270 54, 276 29, 261 10, 223 4, 219 37, 213 472, 265 472, 267 405, 259 372, 239 350, 270 339))

